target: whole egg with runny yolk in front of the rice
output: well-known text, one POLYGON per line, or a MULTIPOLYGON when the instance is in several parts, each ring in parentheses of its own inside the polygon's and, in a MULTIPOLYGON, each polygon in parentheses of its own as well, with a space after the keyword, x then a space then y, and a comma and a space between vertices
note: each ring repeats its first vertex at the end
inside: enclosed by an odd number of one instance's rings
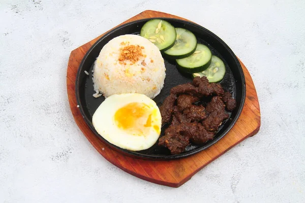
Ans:
POLYGON ((123 149, 139 151, 153 146, 161 132, 161 113, 144 94, 113 94, 93 115, 96 131, 123 149))

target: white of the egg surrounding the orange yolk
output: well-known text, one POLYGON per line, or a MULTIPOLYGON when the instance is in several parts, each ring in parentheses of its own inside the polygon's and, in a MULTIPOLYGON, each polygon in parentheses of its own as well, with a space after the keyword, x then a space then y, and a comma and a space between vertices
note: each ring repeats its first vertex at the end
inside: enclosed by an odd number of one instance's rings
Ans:
POLYGON ((105 99, 93 115, 92 123, 96 131, 108 142, 123 149, 139 151, 148 149, 153 146, 161 131, 161 113, 155 101, 144 94, 126 93, 113 94, 105 99), (155 114, 151 116, 154 125, 159 130, 149 127, 148 133, 142 136, 135 136, 124 129, 120 129, 114 120, 116 111, 130 103, 144 103, 149 106, 149 110, 155 110, 155 114))

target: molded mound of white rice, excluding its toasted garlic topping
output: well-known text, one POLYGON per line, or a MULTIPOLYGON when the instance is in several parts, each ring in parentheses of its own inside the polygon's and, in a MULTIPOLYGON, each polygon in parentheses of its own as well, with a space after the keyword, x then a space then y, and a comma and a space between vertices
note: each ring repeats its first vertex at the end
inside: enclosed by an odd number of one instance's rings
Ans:
POLYGON ((163 88, 165 79, 164 59, 158 47, 137 35, 123 35, 110 40, 97 57, 93 72, 95 97, 100 96, 99 93, 105 97, 140 93, 154 98, 163 88), (118 60, 120 49, 128 45, 142 46, 143 57, 135 63, 118 60))

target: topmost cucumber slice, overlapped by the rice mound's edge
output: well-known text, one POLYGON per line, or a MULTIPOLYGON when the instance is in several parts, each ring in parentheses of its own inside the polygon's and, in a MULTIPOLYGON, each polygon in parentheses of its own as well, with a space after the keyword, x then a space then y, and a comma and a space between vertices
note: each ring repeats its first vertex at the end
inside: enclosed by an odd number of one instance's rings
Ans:
POLYGON ((140 36, 154 43, 160 51, 165 51, 174 46, 176 30, 165 20, 153 19, 142 26, 140 36))

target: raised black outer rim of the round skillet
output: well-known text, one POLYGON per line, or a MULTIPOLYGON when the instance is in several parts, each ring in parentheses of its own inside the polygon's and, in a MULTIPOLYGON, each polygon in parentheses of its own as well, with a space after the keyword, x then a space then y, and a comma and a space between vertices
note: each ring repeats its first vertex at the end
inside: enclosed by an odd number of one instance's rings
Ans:
MULTIPOLYGON (((235 81, 235 84, 236 84, 236 81, 235 81)), ((79 105, 78 109, 80 110, 80 112, 82 114, 82 117, 84 118, 86 124, 95 133, 95 136, 97 136, 102 142, 106 143, 109 147, 111 147, 112 149, 114 149, 116 151, 119 151, 119 152, 121 152, 121 153, 123 153, 125 155, 132 156, 134 158, 151 159, 151 160, 170 160, 170 159, 178 159, 178 158, 188 157, 188 156, 196 154, 196 153, 198 153, 198 152, 200 152, 202 150, 205 150, 208 147, 210 147, 210 146, 214 145, 215 143, 217 143, 219 140, 221 140, 230 131, 230 129, 235 125, 236 121, 238 120, 238 118, 239 118, 239 116, 240 116, 240 114, 242 112, 243 106, 245 104, 245 100, 246 100, 246 80, 245 80, 245 75, 243 74, 241 65, 240 65, 236 55, 233 53, 233 51, 230 49, 230 47, 222 39, 220 39, 217 35, 215 35, 213 32, 209 31, 208 29, 206 29, 203 26, 201 26, 199 24, 196 24, 194 22, 190 22, 190 21, 186 21, 186 20, 180 20, 180 19, 177 19, 177 18, 162 18, 162 17, 159 18, 159 17, 156 17, 156 18, 144 18, 144 19, 140 19, 140 20, 135 20, 135 21, 131 21, 131 22, 125 23, 123 25, 117 26, 116 28, 113 28, 112 30, 106 32, 105 35, 103 35, 100 39, 98 39, 92 45, 92 47, 90 47, 90 49, 86 52, 86 54, 84 55, 80 65, 78 67, 76 81, 75 81, 75 94, 76 94, 77 105, 79 105), (228 54, 230 54, 231 57, 233 57, 234 63, 237 66, 238 73, 240 74, 240 77, 241 77, 240 83, 241 83, 241 90, 242 90, 242 92, 241 92, 240 106, 239 106, 239 108, 237 110, 237 113, 236 113, 235 117, 232 118, 231 123, 229 124, 229 126, 223 131, 222 134, 220 134, 220 136, 218 136, 216 139, 213 139, 208 145, 199 147, 197 149, 194 149, 194 150, 188 151, 186 153, 182 153, 182 154, 176 154, 176 155, 149 155, 149 154, 142 154, 142 153, 138 153, 137 151, 130 151, 130 150, 127 150, 127 149, 122 149, 120 147, 117 147, 117 146, 109 143, 107 140, 105 140, 95 130, 95 128, 94 128, 94 126, 92 124, 92 120, 87 118, 87 116, 86 116, 86 114, 85 114, 85 112, 83 110, 83 107, 81 105, 81 98, 80 98, 81 97, 80 96, 80 86, 81 86, 81 77, 80 76, 81 76, 81 70, 82 70, 82 67, 84 65, 84 62, 85 62, 86 58, 90 55, 92 50, 101 41, 103 41, 103 39, 105 39, 107 36, 111 35, 113 32, 116 32, 116 31, 118 31, 119 29, 121 29, 123 27, 130 26, 132 24, 140 23, 140 22, 143 22, 143 21, 148 21, 148 20, 151 20, 151 19, 163 19, 163 20, 168 20, 168 21, 178 21, 180 23, 185 23, 185 24, 189 24, 191 26, 194 26, 198 30, 204 30, 205 32, 208 33, 208 35, 211 35, 211 37, 215 38, 215 40, 218 40, 219 43, 221 43, 226 48, 226 52, 228 52, 228 54)))

